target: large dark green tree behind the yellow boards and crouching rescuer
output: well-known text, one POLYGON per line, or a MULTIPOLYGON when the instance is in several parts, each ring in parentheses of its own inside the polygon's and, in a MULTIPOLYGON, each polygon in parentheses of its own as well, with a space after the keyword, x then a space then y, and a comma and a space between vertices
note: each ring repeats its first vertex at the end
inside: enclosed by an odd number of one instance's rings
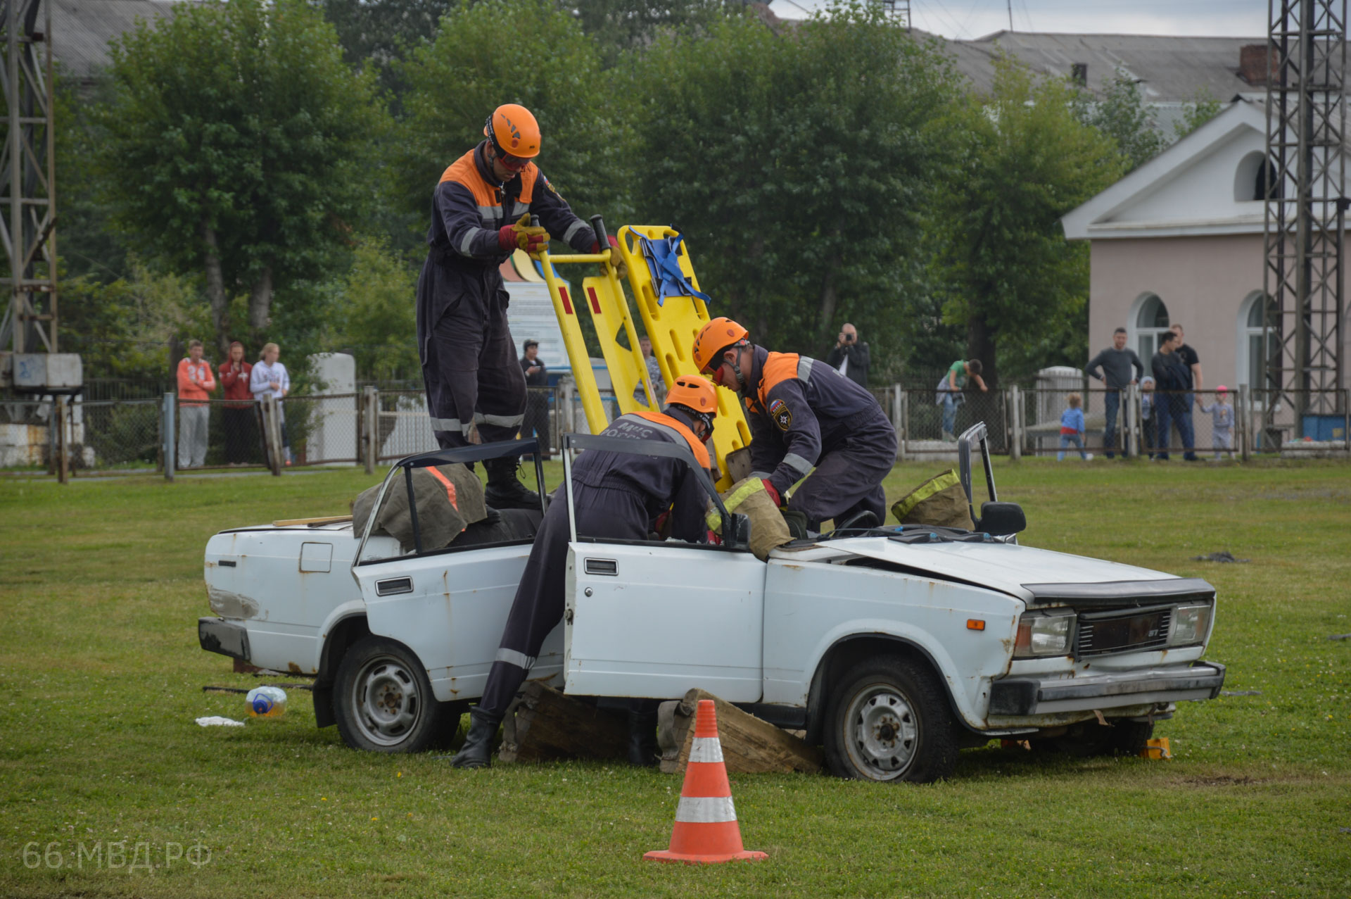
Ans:
POLYGON ((812 353, 851 320, 885 356, 958 93, 938 49, 847 4, 663 37, 634 77, 639 215, 684 228, 713 312, 812 353))

